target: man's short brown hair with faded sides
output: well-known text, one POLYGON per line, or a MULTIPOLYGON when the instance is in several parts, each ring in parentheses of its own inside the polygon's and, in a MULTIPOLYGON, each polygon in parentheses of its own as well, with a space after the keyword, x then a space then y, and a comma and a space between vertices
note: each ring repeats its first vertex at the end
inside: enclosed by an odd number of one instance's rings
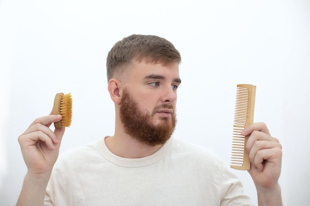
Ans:
POLYGON ((117 41, 106 58, 107 81, 115 71, 132 60, 168 65, 181 62, 181 55, 174 45, 164 38, 154 35, 131 35, 117 41))

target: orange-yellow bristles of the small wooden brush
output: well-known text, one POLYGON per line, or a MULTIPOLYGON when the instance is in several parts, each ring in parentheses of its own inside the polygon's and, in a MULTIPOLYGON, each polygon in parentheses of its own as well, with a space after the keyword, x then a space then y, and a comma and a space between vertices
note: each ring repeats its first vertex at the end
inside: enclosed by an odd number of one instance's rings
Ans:
POLYGON ((71 93, 67 93, 61 96, 59 114, 62 119, 60 124, 62 127, 68 127, 71 125, 72 120, 72 97, 71 93))

